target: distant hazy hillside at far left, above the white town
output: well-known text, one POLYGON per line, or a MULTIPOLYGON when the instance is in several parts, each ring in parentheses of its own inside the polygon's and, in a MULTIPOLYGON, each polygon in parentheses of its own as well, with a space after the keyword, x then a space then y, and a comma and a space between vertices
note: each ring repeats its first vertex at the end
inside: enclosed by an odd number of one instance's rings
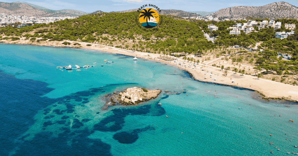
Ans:
POLYGON ((27 2, 15 1, 12 3, 0 2, 0 13, 15 16, 34 16, 34 17, 65 17, 82 16, 88 13, 78 10, 50 10, 38 5, 27 2))

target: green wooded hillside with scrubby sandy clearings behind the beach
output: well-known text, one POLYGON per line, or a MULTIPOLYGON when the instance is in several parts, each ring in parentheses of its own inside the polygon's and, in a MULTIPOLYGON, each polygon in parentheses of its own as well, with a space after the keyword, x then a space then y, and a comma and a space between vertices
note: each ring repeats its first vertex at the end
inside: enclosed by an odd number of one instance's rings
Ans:
MULTIPOLYGON (((154 54, 185 53, 186 56, 175 56, 202 64, 220 58, 219 60, 226 64, 215 61, 210 65, 245 75, 254 74, 256 77, 284 84, 297 84, 298 43, 295 40, 298 36, 297 28, 293 36, 281 40, 274 38, 274 33, 288 31, 283 26, 277 30, 271 27, 263 28, 249 35, 243 32, 240 35, 230 35, 227 28, 246 21, 200 21, 160 15, 156 28, 152 31, 143 31, 136 21, 138 14, 137 12, 98 13, 49 24, 35 24, 21 28, 3 27, 0 28, 0 41, 17 43, 24 40, 26 44, 59 42, 55 46, 74 45, 74 47, 92 47, 91 43, 96 43, 154 54), (210 32, 208 24, 216 25, 218 30, 210 32), (214 43, 207 41, 202 30, 220 39, 214 43), (256 50, 232 48, 235 45, 256 50), (278 53, 292 57, 290 60, 285 60, 283 57, 278 57, 278 53), (202 57, 194 57, 194 54, 202 57)), ((296 19, 276 21, 281 21, 283 25, 298 24, 296 19)))

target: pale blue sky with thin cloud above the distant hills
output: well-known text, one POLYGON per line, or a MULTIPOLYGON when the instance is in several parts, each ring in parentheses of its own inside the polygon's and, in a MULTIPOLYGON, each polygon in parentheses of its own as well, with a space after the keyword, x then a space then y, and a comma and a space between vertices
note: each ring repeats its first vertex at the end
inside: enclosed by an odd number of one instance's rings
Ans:
MULTIPOLYGON (((1 0, 0 0, 1 1, 1 0)), ((2 0, 3 2, 12 2, 2 0)), ((298 0, 285 0, 298 6, 298 0)), ((262 6, 277 2, 274 0, 28 0, 31 4, 52 10, 74 9, 84 12, 101 10, 104 12, 122 11, 139 8, 144 4, 154 4, 160 9, 176 9, 184 11, 214 12, 232 6, 262 6)))

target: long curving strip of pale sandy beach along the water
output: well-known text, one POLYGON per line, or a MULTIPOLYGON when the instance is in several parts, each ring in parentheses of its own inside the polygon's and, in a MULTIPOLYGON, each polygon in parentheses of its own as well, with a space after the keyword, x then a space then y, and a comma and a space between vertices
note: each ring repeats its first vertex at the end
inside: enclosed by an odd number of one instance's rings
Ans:
MULTIPOLYGON (((3 36, 4 38, 5 36, 3 36)), ((41 39, 41 38, 38 38, 41 39)), ((86 43, 86 42, 78 42, 78 41, 40 41, 40 42, 32 42, 30 40, 25 40, 25 38, 21 38, 17 41, 11 40, 1 40, 0 42, 9 43, 9 44, 31 44, 31 45, 39 45, 39 46, 55 46, 55 47, 74 47, 74 48, 86 48, 91 50, 100 50, 103 52, 116 53, 121 55, 128 56, 136 56, 137 58, 147 59, 150 61, 161 62, 164 64, 168 64, 173 67, 177 67, 180 70, 185 70, 189 72, 193 78, 197 81, 202 82, 211 82, 215 84, 223 84, 230 85, 236 87, 243 87, 247 89, 252 89, 258 91, 261 95, 264 96, 265 99, 283 99, 288 101, 298 100, 298 86, 293 86, 290 84, 283 84, 276 81, 271 81, 268 79, 259 78, 252 75, 242 75, 240 73, 232 72, 232 70, 228 70, 226 76, 224 76, 224 71, 221 71, 219 67, 212 66, 215 62, 218 64, 229 64, 229 62, 225 60, 221 60, 222 57, 212 58, 208 61, 204 61, 203 63, 194 63, 187 62, 187 60, 183 60, 182 57, 178 58, 174 61, 164 61, 159 59, 158 57, 163 56, 160 54, 146 53, 146 52, 137 52, 131 50, 125 50, 121 48, 115 48, 102 44, 94 44, 94 43, 86 43), (63 42, 70 42, 70 45, 63 45, 63 42), (73 45, 74 43, 79 43, 81 45, 73 45), (91 44, 91 46, 86 46, 87 44, 91 44), (179 65, 179 63, 181 65, 179 65)), ((213 56, 213 55, 211 55, 213 56)), ((168 56, 170 57, 170 56, 168 56)), ((171 56, 172 58, 173 57, 171 56)), ((188 57, 194 57, 190 55, 188 57)), ((107 58, 108 59, 108 58, 107 58)), ((245 66, 245 65, 243 65, 245 66)), ((247 66, 249 68, 249 66, 247 66)))

